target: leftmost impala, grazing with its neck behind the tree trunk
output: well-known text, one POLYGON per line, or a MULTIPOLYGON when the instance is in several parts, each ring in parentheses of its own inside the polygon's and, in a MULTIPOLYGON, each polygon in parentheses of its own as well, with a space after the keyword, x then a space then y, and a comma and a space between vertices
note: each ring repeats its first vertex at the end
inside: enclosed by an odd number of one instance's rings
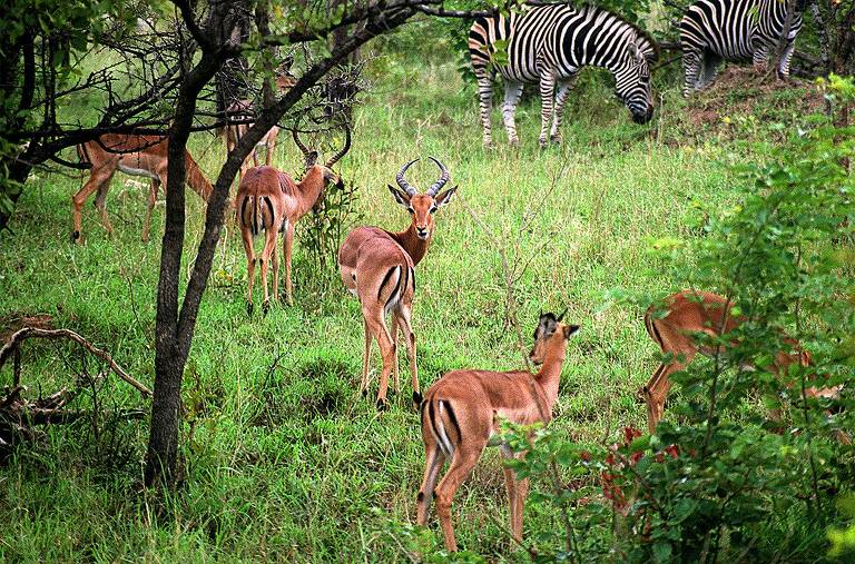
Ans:
MULTIPOLYGON (((112 234, 112 226, 107 218, 107 192, 110 181, 117 170, 131 176, 142 176, 151 179, 148 191, 148 207, 142 224, 142 240, 148 240, 148 231, 151 225, 151 210, 157 202, 157 192, 160 186, 166 190, 168 168, 169 141, 166 137, 147 135, 105 133, 98 139, 77 146, 80 160, 91 165, 89 179, 83 187, 71 197, 75 218, 75 230, 71 238, 81 243, 81 210, 83 204, 92 192, 95 207, 101 215, 101 222, 108 234, 112 234)), ((199 166, 188 151, 184 152, 187 184, 198 194, 203 200, 208 201, 213 187, 199 166)))

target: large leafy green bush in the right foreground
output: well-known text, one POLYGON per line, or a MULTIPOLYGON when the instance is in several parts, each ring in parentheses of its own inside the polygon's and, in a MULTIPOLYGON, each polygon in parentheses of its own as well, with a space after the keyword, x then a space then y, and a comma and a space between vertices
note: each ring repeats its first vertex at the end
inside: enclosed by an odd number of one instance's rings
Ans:
MULTIPOLYGON (((852 80, 823 86, 843 105, 853 98, 852 80)), ((626 428, 603 448, 511 433, 515 449, 530 451, 518 472, 553 486, 533 499, 566 524, 537 540, 544 560, 814 561, 828 551, 826 530, 848 525, 834 498, 855 484, 855 452, 838 441, 855 428, 853 132, 825 120, 741 169, 743 201, 705 226, 694 264, 677 263, 680 287, 718 290, 745 321, 726 338, 696 336, 719 353, 672 376, 681 400, 652 436, 626 428), (785 335, 814 366, 764 368, 785 335), (844 393, 812 398, 812 385, 844 393), (769 420, 765 412, 782 408, 787 416, 769 420)), ((685 256, 670 248, 675 261, 685 256)), ((829 536, 832 556, 852 550, 851 533, 829 536)))

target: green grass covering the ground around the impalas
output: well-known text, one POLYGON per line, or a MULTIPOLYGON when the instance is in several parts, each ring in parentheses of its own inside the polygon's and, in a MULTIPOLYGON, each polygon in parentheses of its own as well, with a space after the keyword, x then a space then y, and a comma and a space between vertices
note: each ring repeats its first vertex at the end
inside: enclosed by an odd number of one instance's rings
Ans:
MULTIPOLYGON (((404 228, 409 217, 385 185, 415 157, 442 159, 460 186, 438 214, 434 243, 417 268, 413 325, 422 386, 453 368, 520 368, 515 335, 505 324, 499 240, 512 261, 528 264, 515 285, 525 338, 541 308, 567 307, 568 318, 582 326, 569 346, 553 427, 587 442, 611 442, 625 425, 643 427, 635 392, 655 367, 656 347, 641 311, 602 308, 605 293, 678 289, 653 243, 692 240, 701 236, 702 209, 734 204, 728 165, 748 158, 745 146, 734 135, 702 132, 681 142, 692 110, 676 88, 666 92, 659 119, 638 127, 607 88, 588 85, 568 107, 562 147, 537 148, 540 106, 533 100, 518 112, 522 147, 507 147, 494 111, 498 148, 485 151, 474 92, 463 88, 453 63, 381 62, 385 71, 356 112, 354 148, 341 162, 342 175, 360 188, 356 211, 367 224, 404 228)), ((281 147, 277 165, 294 172, 297 151, 281 147)), ((219 140, 197 136, 191 149, 203 169, 218 170, 219 140)), ((436 174, 430 162, 411 170, 420 187, 436 174)), ((115 236, 107 237, 87 205, 82 246, 69 241, 70 196, 80 180, 40 174, 29 182, 14 235, 0 236, 0 314, 50 314, 56 326, 102 346, 150 385, 164 208, 156 208, 153 241, 140 243, 145 194, 125 180, 117 175, 108 199, 115 236)), ((185 265, 204 214, 188 195, 185 265)), ((358 304, 334 276, 314 270, 304 235, 298 228, 296 304, 264 318, 245 314, 239 237, 230 232, 217 251, 185 377, 181 492, 163 502, 136 487, 147 422, 119 426, 122 452, 130 453, 119 471, 76 428, 57 428, 0 469, 0 558, 407 557, 404 547, 412 543, 402 540, 410 534, 402 524, 414 522, 423 468, 409 385, 383 414, 357 396, 358 304), (322 287, 320 279, 333 281, 322 287)), ((688 251, 678 258, 691 260, 688 251)), ((71 349, 45 344, 28 344, 23 360, 33 393, 69 385, 66 363, 79 364, 71 349)), ((4 372, 3 384, 10 377, 4 372)), ((120 405, 138 404, 115 387, 120 405)), ((502 528, 504 499, 499 457, 490 452, 455 499, 462 547, 493 561, 522 558, 502 528)), ((553 515, 531 504, 525 520, 530 536, 557 526, 553 515)), ((439 548, 435 520, 431 531, 428 547, 439 548)))

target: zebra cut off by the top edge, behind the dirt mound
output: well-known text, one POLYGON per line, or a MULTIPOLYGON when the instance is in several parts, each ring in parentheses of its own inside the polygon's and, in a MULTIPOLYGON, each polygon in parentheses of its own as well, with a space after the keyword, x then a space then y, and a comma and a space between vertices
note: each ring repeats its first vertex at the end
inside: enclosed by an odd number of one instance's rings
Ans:
MULTIPOLYGON (((707 87, 723 60, 750 59, 756 67, 773 57, 784 32, 787 0, 698 0, 680 20, 680 47, 686 81, 682 95, 707 87)), ((789 76, 789 60, 802 29, 805 0, 796 1, 778 75, 789 76)))

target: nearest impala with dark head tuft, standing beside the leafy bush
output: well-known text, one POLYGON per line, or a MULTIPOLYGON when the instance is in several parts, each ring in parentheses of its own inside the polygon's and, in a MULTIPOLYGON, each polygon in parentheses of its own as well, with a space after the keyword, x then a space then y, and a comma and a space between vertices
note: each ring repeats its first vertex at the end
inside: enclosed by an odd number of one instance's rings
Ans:
MULTIPOLYGON (((428 509, 435 497, 449 551, 458 550, 451 524, 454 492, 478 465, 481 453, 488 446, 499 446, 503 458, 513 457, 512 451, 499 441, 499 419, 531 425, 552 418, 567 339, 579 330, 577 325, 561 323, 562 317, 563 314, 543 314, 538 319, 530 355, 534 364, 541 365, 537 374, 453 370, 424 393, 421 412, 425 466, 416 497, 417 522, 428 524, 428 509), (435 486, 446 458, 451 461, 449 471, 435 486)), ((513 469, 505 467, 504 482, 511 506, 511 534, 521 542, 529 481, 518 481, 513 469)))

